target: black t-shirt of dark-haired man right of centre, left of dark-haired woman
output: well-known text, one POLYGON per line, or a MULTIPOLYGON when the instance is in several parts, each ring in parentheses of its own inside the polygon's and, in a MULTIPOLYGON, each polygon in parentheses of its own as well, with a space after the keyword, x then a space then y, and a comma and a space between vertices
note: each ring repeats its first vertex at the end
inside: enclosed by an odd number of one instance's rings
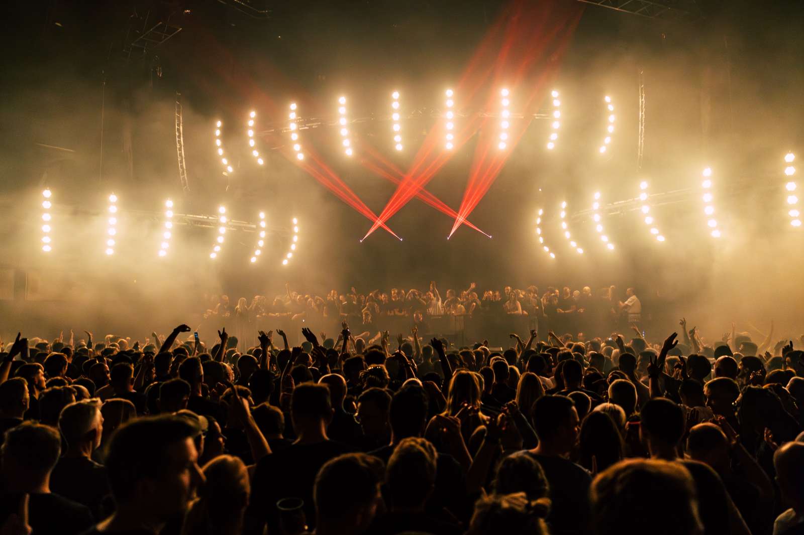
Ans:
POLYGON ((550 484, 552 507, 547 518, 550 533, 553 535, 589 533, 589 517, 592 511, 589 502, 592 476, 589 472, 560 457, 534 453, 529 455, 539 462, 550 484))

